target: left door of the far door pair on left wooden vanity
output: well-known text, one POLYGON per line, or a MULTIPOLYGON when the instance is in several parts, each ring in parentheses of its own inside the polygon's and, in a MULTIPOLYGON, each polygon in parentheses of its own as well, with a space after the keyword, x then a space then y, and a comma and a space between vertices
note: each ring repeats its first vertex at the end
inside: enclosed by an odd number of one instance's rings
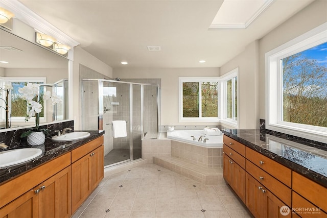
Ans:
POLYGON ((85 155, 72 164, 72 213, 91 192, 90 155, 85 155))

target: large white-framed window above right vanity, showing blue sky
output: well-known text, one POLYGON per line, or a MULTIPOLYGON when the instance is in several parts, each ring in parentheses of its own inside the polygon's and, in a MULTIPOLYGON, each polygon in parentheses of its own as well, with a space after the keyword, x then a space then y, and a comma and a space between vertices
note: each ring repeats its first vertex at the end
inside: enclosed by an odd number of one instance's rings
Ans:
POLYGON ((326 34, 322 25, 266 54, 266 128, 327 141, 326 34))

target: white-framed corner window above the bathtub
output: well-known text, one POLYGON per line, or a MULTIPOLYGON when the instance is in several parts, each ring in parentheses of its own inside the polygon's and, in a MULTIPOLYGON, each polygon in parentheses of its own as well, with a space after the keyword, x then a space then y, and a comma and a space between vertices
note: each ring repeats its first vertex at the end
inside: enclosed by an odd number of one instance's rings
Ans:
POLYGON ((238 68, 223 77, 179 78, 179 122, 222 122, 238 126, 238 68))

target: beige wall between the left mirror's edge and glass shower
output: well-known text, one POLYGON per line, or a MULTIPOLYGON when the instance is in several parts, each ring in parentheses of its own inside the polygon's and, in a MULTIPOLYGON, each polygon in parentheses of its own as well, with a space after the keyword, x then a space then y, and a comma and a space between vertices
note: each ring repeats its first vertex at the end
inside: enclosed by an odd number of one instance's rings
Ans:
POLYGON ((112 78, 112 68, 107 64, 103 63, 96 57, 90 55, 85 52, 80 47, 74 48, 74 62, 73 62, 73 117, 74 118, 74 127, 75 130, 81 129, 80 120, 82 118, 82 114, 80 111, 80 64, 87 66, 100 74, 103 74, 107 77, 112 78))

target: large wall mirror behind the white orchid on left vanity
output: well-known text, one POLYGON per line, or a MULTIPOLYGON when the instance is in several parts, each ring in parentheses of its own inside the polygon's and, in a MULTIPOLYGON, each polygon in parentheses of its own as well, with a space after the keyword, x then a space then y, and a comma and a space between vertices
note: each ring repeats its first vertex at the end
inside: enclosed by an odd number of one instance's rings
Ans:
MULTIPOLYGON (((43 109, 40 124, 68 118, 68 59, 44 49, 30 41, 0 29, 0 87, 6 84, 13 89, 0 90, 0 131, 6 128, 6 103, 9 107, 9 128, 34 125, 25 116, 29 108, 22 100, 18 88, 27 83, 39 83, 39 102, 43 109), (52 104, 43 100, 42 94, 50 91, 62 101, 52 104), (6 101, 7 100, 7 101, 6 101)), ((8 87, 8 86, 6 86, 8 87)))

